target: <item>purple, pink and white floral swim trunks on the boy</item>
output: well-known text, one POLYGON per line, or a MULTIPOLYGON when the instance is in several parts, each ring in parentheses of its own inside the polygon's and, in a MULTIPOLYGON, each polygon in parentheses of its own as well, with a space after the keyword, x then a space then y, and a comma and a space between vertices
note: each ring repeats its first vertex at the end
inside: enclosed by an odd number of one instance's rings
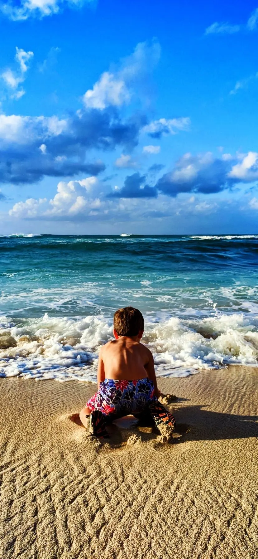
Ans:
POLYGON ((154 383, 147 377, 135 381, 105 378, 86 405, 90 411, 99 410, 103 415, 141 413, 157 401, 154 391, 154 383))

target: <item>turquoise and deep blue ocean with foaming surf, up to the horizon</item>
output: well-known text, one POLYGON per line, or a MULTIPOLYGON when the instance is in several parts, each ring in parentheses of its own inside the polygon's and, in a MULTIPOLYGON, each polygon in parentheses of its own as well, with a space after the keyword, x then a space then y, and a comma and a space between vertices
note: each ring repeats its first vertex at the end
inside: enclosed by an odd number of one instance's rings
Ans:
POLYGON ((116 309, 157 376, 257 366, 258 235, 0 236, 0 376, 95 381, 116 309))

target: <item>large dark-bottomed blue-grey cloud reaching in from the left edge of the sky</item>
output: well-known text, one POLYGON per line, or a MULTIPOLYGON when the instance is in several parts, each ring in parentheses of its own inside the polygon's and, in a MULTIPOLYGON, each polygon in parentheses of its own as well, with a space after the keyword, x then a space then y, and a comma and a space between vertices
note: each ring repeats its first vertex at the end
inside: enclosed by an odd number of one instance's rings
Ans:
POLYGON ((141 119, 122 121, 116 111, 87 110, 66 119, 0 115, 0 181, 30 183, 44 176, 98 174, 102 162, 88 162, 88 151, 132 149, 141 119))

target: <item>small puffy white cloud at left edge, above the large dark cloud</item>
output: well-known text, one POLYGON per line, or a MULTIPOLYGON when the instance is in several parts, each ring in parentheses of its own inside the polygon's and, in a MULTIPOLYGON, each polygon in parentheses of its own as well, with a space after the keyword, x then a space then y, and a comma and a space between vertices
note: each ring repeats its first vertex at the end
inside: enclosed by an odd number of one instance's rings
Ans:
POLYGON ((12 99, 20 99, 25 91, 23 88, 18 89, 21 83, 25 81, 26 72, 29 67, 31 58, 33 58, 34 53, 32 51, 26 52, 23 49, 18 49, 16 46, 15 60, 18 65, 18 69, 13 72, 11 68, 6 68, 1 74, 1 78, 4 81, 8 91, 11 91, 10 96, 12 99))

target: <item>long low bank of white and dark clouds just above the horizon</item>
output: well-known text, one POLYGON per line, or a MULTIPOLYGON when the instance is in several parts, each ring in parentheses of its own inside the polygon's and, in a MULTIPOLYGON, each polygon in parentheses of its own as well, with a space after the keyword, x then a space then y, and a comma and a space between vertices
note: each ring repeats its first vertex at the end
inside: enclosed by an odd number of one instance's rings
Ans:
MULTIPOLYGON (((148 183, 151 180, 148 181, 146 175, 138 172, 128 175, 123 186, 114 186, 112 191, 95 176, 80 181, 61 181, 50 200, 27 198, 15 203, 9 215, 45 221, 116 222, 169 217, 181 212, 184 217, 187 212, 209 215, 223 209, 226 203, 216 197, 218 192, 257 179, 258 153, 254 151, 235 157, 224 154, 221 159, 214 158, 211 153, 185 154, 154 186, 148 183), (203 195, 209 197, 203 200, 203 195), (149 198, 147 206, 143 205, 144 198, 149 198)), ((249 207, 258 209, 257 198, 249 201, 249 207)))

